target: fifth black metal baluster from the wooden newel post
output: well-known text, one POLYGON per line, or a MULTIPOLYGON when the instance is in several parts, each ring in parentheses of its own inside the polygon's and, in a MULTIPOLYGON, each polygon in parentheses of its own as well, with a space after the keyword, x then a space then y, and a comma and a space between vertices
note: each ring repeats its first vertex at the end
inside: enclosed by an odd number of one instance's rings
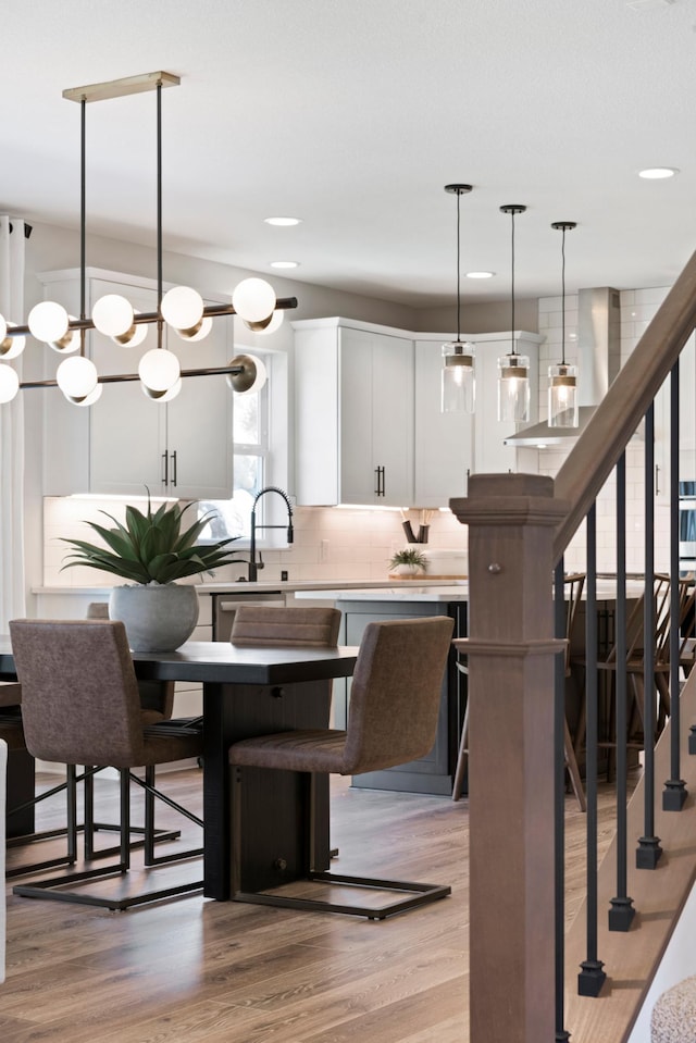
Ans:
POLYGON ((662 791, 662 810, 681 811, 686 783, 680 779, 681 713, 679 698, 679 359, 670 374, 670 777, 662 791))

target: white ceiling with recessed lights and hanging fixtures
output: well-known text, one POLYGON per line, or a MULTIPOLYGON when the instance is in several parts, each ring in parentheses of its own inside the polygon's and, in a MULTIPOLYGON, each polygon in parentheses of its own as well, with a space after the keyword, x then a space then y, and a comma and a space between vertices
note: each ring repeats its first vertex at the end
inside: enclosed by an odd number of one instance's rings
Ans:
MULTIPOLYGON (((569 291, 664 285, 696 248, 695 29, 696 0, 4 0, 0 211, 77 227, 63 89, 165 70, 165 249, 451 303, 468 182, 462 273, 497 275, 464 301, 509 296, 505 203, 519 298, 559 293, 554 221, 569 291)), ((154 245, 154 105, 87 107, 90 233, 154 245)))

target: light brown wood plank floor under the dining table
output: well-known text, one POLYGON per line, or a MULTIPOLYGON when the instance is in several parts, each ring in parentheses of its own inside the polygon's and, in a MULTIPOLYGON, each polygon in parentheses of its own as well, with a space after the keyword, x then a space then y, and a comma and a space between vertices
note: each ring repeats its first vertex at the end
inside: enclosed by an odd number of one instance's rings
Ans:
MULTIPOLYGON (((198 770, 159 781, 200 807, 198 770)), ((451 897, 384 921, 200 895, 110 912, 17 897, 10 882, 0 1041, 467 1043, 468 802, 332 785, 335 867, 450 883, 451 897)), ((100 809, 115 802, 117 783, 98 786, 100 809)), ((604 803, 607 843, 609 792, 604 803)), ((570 918, 584 883, 585 818, 571 796, 567 807, 570 918)), ((158 811, 158 824, 171 815, 158 811)), ((196 830, 185 831, 196 843, 196 830)), ((37 858, 36 845, 28 854, 37 858)), ((16 858, 10 852, 9 866, 16 858)))

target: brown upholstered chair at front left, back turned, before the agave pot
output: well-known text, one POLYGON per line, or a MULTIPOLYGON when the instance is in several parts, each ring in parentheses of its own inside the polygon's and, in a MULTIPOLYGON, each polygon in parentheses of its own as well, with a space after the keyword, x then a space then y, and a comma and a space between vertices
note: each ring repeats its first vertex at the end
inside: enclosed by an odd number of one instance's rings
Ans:
MULTIPOLYGON (((15 886, 16 894, 80 902, 125 909, 157 898, 200 890, 201 880, 127 897, 101 896, 71 885, 123 876, 130 865, 129 782, 150 785, 156 765, 196 758, 202 753, 196 733, 156 733, 140 719, 138 684, 125 626, 116 621, 11 620, 10 635, 22 684, 22 719, 26 747, 33 756, 69 766, 117 768, 121 778, 120 859, 84 872, 69 871, 50 880, 15 886), (146 768, 145 781, 130 773, 146 768), (69 890, 70 887, 70 890, 69 890)), ((153 791, 156 796, 162 796, 153 791)), ((163 797, 188 819, 195 815, 163 797)), ((70 828, 75 809, 69 802, 70 828)), ((188 853, 188 854, 198 854, 188 853)))

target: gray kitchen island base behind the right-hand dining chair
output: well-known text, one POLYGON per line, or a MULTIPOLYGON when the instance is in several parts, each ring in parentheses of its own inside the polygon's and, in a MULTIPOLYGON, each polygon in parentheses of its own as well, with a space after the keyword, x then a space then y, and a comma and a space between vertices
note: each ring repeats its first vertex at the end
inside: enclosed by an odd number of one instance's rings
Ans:
MULTIPOLYGON (((456 637, 467 633, 467 603, 453 601, 395 601, 346 600, 336 601, 343 612, 340 643, 359 645, 368 623, 384 619, 415 619, 428 616, 451 616, 456 637)), ((368 790, 399 790, 408 793, 450 795, 459 734, 465 710, 465 674, 457 669, 458 654, 452 647, 445 676, 437 720, 435 745, 420 760, 398 765, 384 771, 369 771, 355 775, 352 785, 368 790)), ((350 679, 334 682, 334 727, 345 728, 350 711, 350 679)))

